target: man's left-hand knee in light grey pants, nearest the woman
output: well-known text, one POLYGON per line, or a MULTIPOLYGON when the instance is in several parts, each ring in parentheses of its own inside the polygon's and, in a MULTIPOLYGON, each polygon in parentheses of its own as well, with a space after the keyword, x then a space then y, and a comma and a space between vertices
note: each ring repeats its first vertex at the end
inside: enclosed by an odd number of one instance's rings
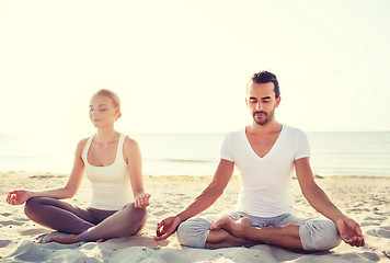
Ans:
POLYGON ((177 240, 182 245, 204 248, 211 225, 211 220, 204 218, 186 220, 177 228, 177 240))

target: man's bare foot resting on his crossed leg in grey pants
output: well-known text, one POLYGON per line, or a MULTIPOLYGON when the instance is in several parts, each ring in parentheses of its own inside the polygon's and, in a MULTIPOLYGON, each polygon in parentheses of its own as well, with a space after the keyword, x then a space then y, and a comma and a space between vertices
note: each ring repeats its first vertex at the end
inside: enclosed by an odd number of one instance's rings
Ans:
POLYGON ((238 238, 245 238, 245 233, 253 228, 251 220, 246 217, 236 222, 229 217, 222 217, 210 227, 211 230, 225 229, 238 238))

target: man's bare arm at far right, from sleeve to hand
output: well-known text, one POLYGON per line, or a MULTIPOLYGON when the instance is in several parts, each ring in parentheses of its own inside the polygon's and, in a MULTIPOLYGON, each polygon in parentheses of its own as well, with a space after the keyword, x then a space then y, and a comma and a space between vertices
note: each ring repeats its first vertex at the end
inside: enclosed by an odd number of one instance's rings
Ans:
POLYGON ((309 204, 323 216, 331 219, 337 227, 342 240, 351 245, 363 247, 365 240, 359 225, 346 217, 318 186, 310 168, 309 158, 295 161, 299 186, 309 204))

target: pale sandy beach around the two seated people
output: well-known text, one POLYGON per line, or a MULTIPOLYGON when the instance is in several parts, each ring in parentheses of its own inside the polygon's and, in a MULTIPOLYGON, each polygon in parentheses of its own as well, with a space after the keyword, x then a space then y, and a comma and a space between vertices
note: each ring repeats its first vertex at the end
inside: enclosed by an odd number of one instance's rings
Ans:
MULTIPOLYGON (((68 174, 25 172, 0 173, 0 261, 1 262, 390 262, 390 179, 342 178, 318 179, 319 185, 345 214, 357 220, 366 245, 352 248, 342 243, 336 249, 299 253, 273 245, 199 250, 181 247, 176 236, 165 241, 153 240, 156 225, 184 208, 209 183, 210 176, 145 176, 151 194, 149 217, 139 237, 111 239, 102 243, 46 243, 51 230, 41 227, 23 213, 22 206, 5 203, 11 190, 44 190, 65 185, 68 174)), ((200 216, 220 217, 233 210, 239 181, 233 178, 225 194, 200 216)), ((301 196, 297 180, 291 191, 296 211, 302 217, 320 217, 301 196)), ((87 180, 69 202, 87 206, 90 188, 87 180)))

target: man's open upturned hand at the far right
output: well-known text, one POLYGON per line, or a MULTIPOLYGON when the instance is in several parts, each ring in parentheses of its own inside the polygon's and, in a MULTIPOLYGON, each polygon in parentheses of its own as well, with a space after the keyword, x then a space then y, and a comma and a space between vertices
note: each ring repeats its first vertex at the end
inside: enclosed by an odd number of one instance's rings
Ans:
POLYGON ((365 245, 365 239, 359 225, 348 217, 343 217, 336 221, 336 227, 341 239, 352 247, 365 245))

